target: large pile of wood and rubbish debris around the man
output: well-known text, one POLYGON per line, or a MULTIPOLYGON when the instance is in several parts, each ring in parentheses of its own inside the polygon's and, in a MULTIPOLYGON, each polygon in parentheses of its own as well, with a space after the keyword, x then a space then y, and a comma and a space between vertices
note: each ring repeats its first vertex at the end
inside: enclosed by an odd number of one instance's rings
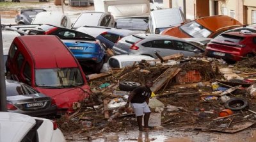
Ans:
MULTIPOLYGON (((112 70, 106 77, 94 78, 90 81, 93 95, 86 102, 81 103, 79 113, 69 117, 70 120, 66 117, 67 123, 76 123, 76 125, 67 125, 60 119, 61 130, 65 132, 67 127, 69 129, 74 127, 72 130, 88 136, 97 136, 104 132, 134 130, 137 128, 136 117, 131 107, 129 109, 124 107, 129 91, 120 90, 118 85, 120 81, 134 81, 143 85, 147 79, 154 81, 151 90, 156 94, 156 97, 150 100, 157 100, 157 104, 161 104, 150 106, 152 114, 158 116, 156 122, 160 121, 156 129, 189 127, 193 130, 232 133, 246 129, 255 123, 256 100, 248 95, 250 91, 246 90, 248 84, 252 83, 236 83, 232 79, 227 80, 219 68, 228 68, 228 65, 218 59, 179 57, 175 60, 180 61, 180 64, 166 65, 168 59, 164 60, 164 63, 151 63, 151 65, 144 61, 122 70, 112 70), (106 83, 109 85, 99 88, 100 84, 106 83), (212 83, 218 85, 212 86, 212 83), (223 88, 226 89, 223 90, 223 88), (225 102, 235 97, 248 101, 248 108, 219 117, 219 113, 225 109, 225 102), (116 103, 115 107, 111 107, 115 104, 113 102, 116 103), (92 122, 92 125, 81 128, 83 126, 81 119, 86 117, 92 120, 83 121, 92 122)), ((239 68, 236 70, 239 71, 239 68)), ((230 73, 233 74, 234 70, 230 73)), ((239 76, 239 74, 236 75, 239 76)), ((250 73, 246 72, 246 74, 250 73)), ((153 115, 152 118, 154 118, 153 115)))

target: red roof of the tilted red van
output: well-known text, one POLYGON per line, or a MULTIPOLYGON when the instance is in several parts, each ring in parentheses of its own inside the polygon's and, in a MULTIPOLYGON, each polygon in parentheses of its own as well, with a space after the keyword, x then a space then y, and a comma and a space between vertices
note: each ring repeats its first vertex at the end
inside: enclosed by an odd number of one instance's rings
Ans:
POLYGON ((76 59, 58 36, 29 35, 17 38, 30 52, 35 68, 77 67, 76 59))

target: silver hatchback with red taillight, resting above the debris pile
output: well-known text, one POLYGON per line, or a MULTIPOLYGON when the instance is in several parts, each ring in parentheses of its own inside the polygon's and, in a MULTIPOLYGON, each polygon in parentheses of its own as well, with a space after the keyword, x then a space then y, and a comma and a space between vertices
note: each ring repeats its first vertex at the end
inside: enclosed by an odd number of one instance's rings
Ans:
POLYGON ((134 34, 118 40, 113 46, 113 51, 116 55, 141 54, 157 58, 156 52, 162 57, 176 53, 195 56, 204 52, 204 49, 173 36, 134 34))

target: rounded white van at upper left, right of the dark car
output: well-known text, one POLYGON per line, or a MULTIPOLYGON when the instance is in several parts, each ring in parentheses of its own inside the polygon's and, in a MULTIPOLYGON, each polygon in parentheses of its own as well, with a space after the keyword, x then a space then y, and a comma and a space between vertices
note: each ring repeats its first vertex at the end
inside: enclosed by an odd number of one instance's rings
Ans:
POLYGON ((31 24, 51 24, 53 26, 71 28, 70 19, 61 12, 40 12, 36 14, 31 24))

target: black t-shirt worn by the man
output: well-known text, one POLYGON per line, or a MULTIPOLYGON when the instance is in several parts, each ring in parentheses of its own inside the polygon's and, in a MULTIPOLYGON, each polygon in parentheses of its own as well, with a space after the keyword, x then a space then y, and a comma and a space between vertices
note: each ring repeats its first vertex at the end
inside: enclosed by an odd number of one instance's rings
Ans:
POLYGON ((148 99, 151 96, 152 91, 150 88, 147 88, 146 86, 140 86, 133 90, 134 97, 131 100, 131 103, 143 103, 146 99, 148 99))

